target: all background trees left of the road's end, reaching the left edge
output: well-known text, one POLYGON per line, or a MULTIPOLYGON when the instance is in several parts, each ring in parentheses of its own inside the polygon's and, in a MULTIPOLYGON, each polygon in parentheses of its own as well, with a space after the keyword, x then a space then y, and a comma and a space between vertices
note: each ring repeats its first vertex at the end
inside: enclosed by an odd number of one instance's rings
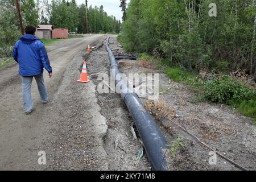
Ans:
MULTIPOLYGON (((55 28, 68 28, 69 32, 80 34, 100 32, 118 34, 120 31, 121 21, 114 16, 109 16, 103 6, 77 5, 75 0, 22 0, 19 2, 23 27, 27 24, 34 26, 52 24, 55 28)), ((10 56, 12 46, 20 36, 20 27, 16 1, 0 0, 0 7, 0 57, 3 57, 10 56)))

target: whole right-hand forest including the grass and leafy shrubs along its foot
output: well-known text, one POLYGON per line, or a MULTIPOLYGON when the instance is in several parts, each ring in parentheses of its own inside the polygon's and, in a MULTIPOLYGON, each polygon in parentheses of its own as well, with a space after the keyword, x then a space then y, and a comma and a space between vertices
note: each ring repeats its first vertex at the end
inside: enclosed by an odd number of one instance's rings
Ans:
MULTIPOLYGON (((121 0, 119 42, 164 65, 197 101, 237 108, 256 121, 255 0, 121 0)), ((256 122, 255 122, 256 123, 256 122)))

